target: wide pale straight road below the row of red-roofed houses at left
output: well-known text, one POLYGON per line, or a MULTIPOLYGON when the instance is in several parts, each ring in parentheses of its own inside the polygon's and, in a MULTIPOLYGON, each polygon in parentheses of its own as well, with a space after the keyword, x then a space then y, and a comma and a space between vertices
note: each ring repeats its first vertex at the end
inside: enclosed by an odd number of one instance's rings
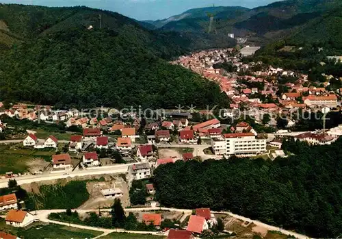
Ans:
MULTIPOLYGON (((110 174, 110 173, 126 173, 128 168, 131 164, 120 164, 110 166, 109 168, 106 167, 96 167, 96 168, 88 168, 83 169, 83 171, 74 171, 70 172, 68 175, 64 175, 64 171, 61 173, 49 173, 44 175, 27 175, 21 177, 15 177, 16 182, 18 185, 20 184, 30 184, 35 181, 45 181, 45 180, 54 180, 54 179, 65 179, 67 177, 80 177, 80 176, 87 176, 87 175, 103 175, 103 174, 110 174)), ((8 179, 0 179, 0 188, 5 188, 8 186, 8 179)))

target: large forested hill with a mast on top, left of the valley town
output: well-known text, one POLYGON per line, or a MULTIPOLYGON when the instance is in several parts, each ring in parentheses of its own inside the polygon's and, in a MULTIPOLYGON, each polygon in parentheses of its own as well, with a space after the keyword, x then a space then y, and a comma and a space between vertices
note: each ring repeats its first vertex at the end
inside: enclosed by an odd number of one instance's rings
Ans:
POLYGON ((0 20, 3 36, 14 39, 0 51, 0 100, 118 108, 226 103, 216 84, 163 60, 188 50, 191 41, 179 34, 83 7, 1 5, 0 20))

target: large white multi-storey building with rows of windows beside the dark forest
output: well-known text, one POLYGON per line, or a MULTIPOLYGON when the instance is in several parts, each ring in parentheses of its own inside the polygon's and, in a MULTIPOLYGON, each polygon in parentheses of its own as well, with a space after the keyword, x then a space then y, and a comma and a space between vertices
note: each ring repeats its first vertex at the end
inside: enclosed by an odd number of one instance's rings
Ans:
POLYGON ((257 155, 266 151, 266 140, 253 133, 223 134, 211 139, 211 148, 215 155, 257 155))

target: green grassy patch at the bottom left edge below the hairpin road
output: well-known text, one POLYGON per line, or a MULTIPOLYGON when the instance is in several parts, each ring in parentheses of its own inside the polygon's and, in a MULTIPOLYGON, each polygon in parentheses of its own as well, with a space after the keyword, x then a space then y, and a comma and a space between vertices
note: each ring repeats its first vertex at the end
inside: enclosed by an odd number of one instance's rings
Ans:
POLYGON ((63 225, 36 225, 29 229, 18 229, 16 234, 20 238, 27 239, 44 239, 44 238, 94 238, 101 235, 101 231, 90 231, 86 229, 78 229, 75 227, 66 227, 63 225))

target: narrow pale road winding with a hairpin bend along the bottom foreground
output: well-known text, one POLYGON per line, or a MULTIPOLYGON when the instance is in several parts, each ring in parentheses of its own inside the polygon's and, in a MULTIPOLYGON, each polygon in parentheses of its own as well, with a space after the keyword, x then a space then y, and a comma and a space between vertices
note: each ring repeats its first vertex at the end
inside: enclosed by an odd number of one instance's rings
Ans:
MULTIPOLYGON (((178 209, 178 208, 170 208, 170 207, 140 207, 140 208, 125 208, 124 211, 126 212, 131 212, 131 211, 148 211, 148 210, 168 210, 168 211, 173 211, 173 212, 184 212, 184 213, 192 213, 192 210, 189 210, 189 209, 178 209)), ((40 221, 43 221, 43 222, 47 222, 47 223, 56 223, 56 224, 61 224, 61 225, 69 225, 69 223, 61 223, 61 222, 57 222, 57 221, 51 221, 49 220, 47 217, 49 216, 50 213, 52 212, 65 212, 66 210, 39 210, 39 211, 36 211, 37 212, 37 215, 36 215, 36 218, 39 218, 40 221)), ((94 211, 97 211, 97 210, 77 210, 77 212, 79 213, 86 213, 86 212, 94 212, 94 211)), ((111 209, 102 209, 101 211, 105 212, 109 212, 111 211, 111 209)), ((244 216, 239 216, 237 214, 233 214, 231 212, 224 212, 224 211, 221 211, 221 212, 215 212, 215 211, 211 211, 213 213, 224 213, 224 214, 228 214, 229 216, 233 216, 234 218, 237 218, 239 220, 243 220, 243 221, 248 221, 248 222, 251 222, 251 223, 254 223, 255 225, 258 225, 259 227, 264 227, 265 229, 269 230, 269 231, 279 231, 279 227, 274 227, 272 225, 267 225, 265 223, 261 223, 260 221, 257 221, 257 220, 252 220, 250 218, 246 218, 244 216)), ((128 233, 135 233, 135 234, 157 234, 155 232, 150 232, 150 231, 125 231, 124 229, 104 229, 104 228, 98 228, 98 227, 87 227, 87 226, 83 226, 83 225, 75 225, 75 224, 70 224, 70 227, 78 227, 78 228, 81 228, 81 229, 90 229, 90 230, 95 230, 95 231, 103 231, 103 235, 101 236, 105 236, 111 232, 114 232, 114 231, 118 231, 118 232, 128 232, 128 233)), ((288 231, 288 230, 285 230, 285 229, 280 229, 281 233, 282 234, 285 234, 285 235, 293 235, 295 236, 296 238, 300 238, 300 239, 305 239, 305 238, 309 238, 308 236, 305 236, 303 234, 298 234, 298 233, 295 233, 293 231, 288 231)), ((167 235, 164 235, 164 236, 167 236, 167 235)), ((96 237, 96 238, 99 238, 100 236, 96 237)))

